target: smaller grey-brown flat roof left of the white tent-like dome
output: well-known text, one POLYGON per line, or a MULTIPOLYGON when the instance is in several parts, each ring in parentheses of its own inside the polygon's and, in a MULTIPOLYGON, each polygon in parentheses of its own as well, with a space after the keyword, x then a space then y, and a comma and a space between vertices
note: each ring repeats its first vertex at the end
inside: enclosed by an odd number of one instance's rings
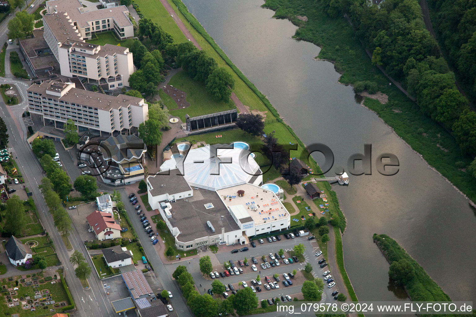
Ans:
POLYGON ((170 195, 189 191, 190 185, 182 175, 177 175, 180 173, 178 169, 171 170, 166 172, 157 173, 156 175, 151 175, 147 178, 147 181, 152 185, 153 189, 150 190, 152 196, 159 196, 166 193, 170 195), (163 187, 161 185, 164 185, 163 187))

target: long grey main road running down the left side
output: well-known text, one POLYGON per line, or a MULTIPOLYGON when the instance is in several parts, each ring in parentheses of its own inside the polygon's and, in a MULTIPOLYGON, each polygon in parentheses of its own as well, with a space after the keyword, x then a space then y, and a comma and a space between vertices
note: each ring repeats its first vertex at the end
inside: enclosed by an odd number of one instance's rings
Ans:
MULTIPOLYGON (((9 81, 11 82, 11 80, 9 81)), ((25 89, 25 83, 16 81, 17 86, 25 89)), ((76 278, 74 267, 69 263, 69 252, 63 244, 60 234, 56 230, 53 219, 48 212, 48 208, 40 193, 38 185, 41 183, 43 177, 40 163, 34 156, 29 144, 26 143, 26 128, 21 122, 21 113, 23 112, 23 105, 6 106, 3 101, 0 101, 1 116, 9 129, 10 147, 12 148, 13 156, 16 156, 16 161, 20 166, 23 175, 25 176, 25 186, 27 186, 33 193, 33 199, 39 211, 40 221, 46 231, 50 233, 50 238, 56 247, 58 258, 64 268, 64 275, 69 285, 69 290, 73 296, 78 310, 72 316, 80 317, 106 317, 115 316, 112 308, 109 305, 107 298, 103 298, 102 284, 96 280, 94 275, 89 279, 90 289, 84 290, 79 279, 76 278), (101 286, 101 288, 99 288, 101 286)), ((70 236, 71 244, 74 250, 81 250, 83 254, 84 246, 82 241, 78 239, 79 234, 75 230, 70 236)), ((86 256, 85 256, 86 257, 86 256)), ((88 257, 86 257, 88 259, 88 257)), ((92 265, 88 259, 89 265, 92 265)))

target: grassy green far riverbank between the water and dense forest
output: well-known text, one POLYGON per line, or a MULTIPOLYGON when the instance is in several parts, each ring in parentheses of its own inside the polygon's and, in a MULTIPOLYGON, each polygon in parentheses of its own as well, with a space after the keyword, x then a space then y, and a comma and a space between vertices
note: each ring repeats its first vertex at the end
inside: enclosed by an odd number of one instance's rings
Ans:
POLYGON ((388 79, 372 65, 344 17, 329 18, 311 0, 267 0, 262 7, 274 10, 275 18, 288 19, 295 24, 298 29, 294 38, 321 47, 316 59, 332 61, 336 71, 342 74, 340 83, 353 85, 366 80, 377 82, 379 90, 388 96, 389 102, 381 104, 377 100, 365 98, 364 105, 383 119, 466 198, 476 200, 476 180, 460 168, 461 164, 469 165, 472 158, 462 155, 453 136, 423 115, 416 103, 395 85, 388 85, 388 79), (306 15, 307 21, 297 18, 302 15, 306 15))

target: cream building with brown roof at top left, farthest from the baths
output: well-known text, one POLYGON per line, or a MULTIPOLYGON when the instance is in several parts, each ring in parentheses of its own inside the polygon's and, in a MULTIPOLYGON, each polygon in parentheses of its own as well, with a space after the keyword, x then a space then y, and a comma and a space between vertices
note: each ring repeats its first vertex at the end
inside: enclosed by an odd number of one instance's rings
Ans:
POLYGON ((85 10, 79 0, 46 1, 47 13, 67 12, 82 38, 90 39, 95 32, 114 30, 120 39, 134 37, 134 27, 126 6, 100 10, 85 10))

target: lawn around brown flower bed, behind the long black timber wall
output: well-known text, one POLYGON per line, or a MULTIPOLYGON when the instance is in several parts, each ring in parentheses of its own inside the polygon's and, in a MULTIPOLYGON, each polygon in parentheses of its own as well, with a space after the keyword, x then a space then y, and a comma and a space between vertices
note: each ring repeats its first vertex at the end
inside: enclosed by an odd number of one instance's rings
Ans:
POLYGON ((188 77, 185 71, 178 72, 170 78, 169 84, 187 93, 186 99, 190 103, 190 106, 185 109, 169 111, 171 115, 178 116, 183 122, 185 122, 185 114, 194 117, 235 108, 233 102, 227 104, 223 101, 214 101, 212 96, 208 93, 207 87, 188 77))

